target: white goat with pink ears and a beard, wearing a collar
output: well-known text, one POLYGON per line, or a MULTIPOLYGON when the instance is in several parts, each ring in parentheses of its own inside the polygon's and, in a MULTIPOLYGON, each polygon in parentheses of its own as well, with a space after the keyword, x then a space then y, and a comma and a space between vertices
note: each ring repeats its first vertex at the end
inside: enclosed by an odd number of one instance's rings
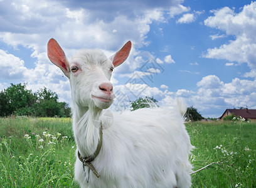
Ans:
POLYGON ((70 80, 78 150, 75 179, 81 187, 190 187, 192 146, 183 104, 112 112, 112 125, 101 123, 102 110, 115 98, 109 81, 112 71, 130 50, 128 41, 112 58, 98 50, 82 50, 68 61, 55 39, 48 42, 48 57, 70 80))

